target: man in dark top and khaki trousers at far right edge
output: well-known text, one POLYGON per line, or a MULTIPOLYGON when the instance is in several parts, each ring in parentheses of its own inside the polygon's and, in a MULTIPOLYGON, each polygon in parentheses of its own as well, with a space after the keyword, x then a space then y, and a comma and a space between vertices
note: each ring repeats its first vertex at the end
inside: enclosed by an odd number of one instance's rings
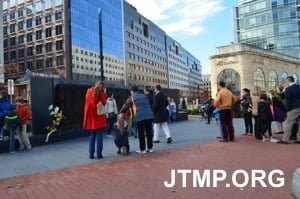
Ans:
MULTIPOLYGON (((286 89, 284 92, 287 118, 283 123, 283 138, 278 143, 287 144, 290 140, 294 123, 300 125, 300 85, 295 84, 292 76, 286 79, 286 89)), ((297 141, 300 144, 300 128, 298 128, 297 141)))

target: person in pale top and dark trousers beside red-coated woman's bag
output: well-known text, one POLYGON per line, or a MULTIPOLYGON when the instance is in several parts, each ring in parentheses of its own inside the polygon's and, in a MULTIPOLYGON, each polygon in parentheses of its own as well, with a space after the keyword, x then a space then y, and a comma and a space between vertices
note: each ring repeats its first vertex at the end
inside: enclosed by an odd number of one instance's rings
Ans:
POLYGON ((114 98, 113 93, 108 94, 108 98, 106 100, 106 111, 107 111, 107 121, 108 121, 108 127, 107 127, 107 136, 112 138, 111 131, 114 127, 114 123, 116 122, 117 115, 118 115, 118 107, 117 102, 114 98))

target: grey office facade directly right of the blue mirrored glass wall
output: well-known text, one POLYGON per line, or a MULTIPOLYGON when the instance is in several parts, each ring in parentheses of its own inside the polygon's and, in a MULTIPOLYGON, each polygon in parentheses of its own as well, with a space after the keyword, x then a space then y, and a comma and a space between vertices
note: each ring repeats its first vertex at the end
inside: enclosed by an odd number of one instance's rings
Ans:
POLYGON ((126 1, 124 31, 126 82, 167 87, 166 33, 126 1))

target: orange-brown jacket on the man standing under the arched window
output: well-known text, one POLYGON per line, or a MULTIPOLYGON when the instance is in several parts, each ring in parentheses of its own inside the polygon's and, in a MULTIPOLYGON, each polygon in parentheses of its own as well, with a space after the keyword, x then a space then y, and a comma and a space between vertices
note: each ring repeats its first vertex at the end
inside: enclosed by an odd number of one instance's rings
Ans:
POLYGON ((232 92, 227 88, 222 88, 217 94, 214 106, 221 110, 231 109, 231 106, 235 103, 235 101, 236 100, 232 92))

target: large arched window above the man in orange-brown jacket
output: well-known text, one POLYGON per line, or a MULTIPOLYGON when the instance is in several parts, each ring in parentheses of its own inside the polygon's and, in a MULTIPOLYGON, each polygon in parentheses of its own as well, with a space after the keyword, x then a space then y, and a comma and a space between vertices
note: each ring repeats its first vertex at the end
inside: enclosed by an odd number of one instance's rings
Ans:
POLYGON ((241 77, 236 70, 223 70, 218 75, 218 82, 225 82, 226 86, 230 87, 234 93, 241 91, 241 77))

